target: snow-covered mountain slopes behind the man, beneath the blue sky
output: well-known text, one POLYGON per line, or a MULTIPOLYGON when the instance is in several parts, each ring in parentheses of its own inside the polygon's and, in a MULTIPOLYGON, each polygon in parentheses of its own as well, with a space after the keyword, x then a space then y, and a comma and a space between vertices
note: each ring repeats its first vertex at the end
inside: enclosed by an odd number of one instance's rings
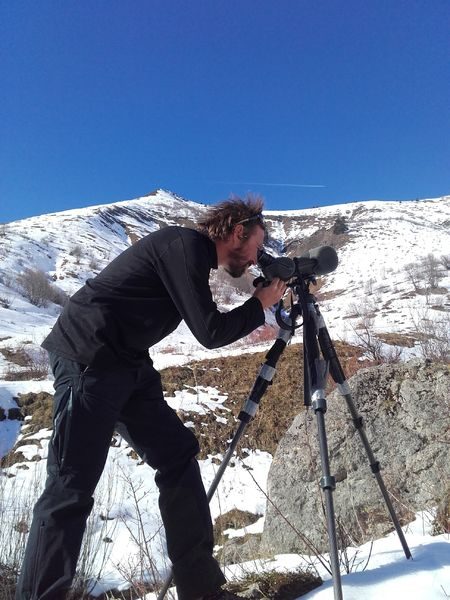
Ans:
MULTIPOLYGON (((206 208, 158 190, 135 200, 1 225, 0 348, 26 344, 27 351, 36 350, 60 311, 53 303, 39 307, 25 297, 18 277, 28 269, 44 273, 70 295, 140 237, 166 225, 192 226, 206 208)), ((323 278, 319 295, 332 337, 351 339, 358 322, 369 315, 380 336, 396 334, 406 344, 405 335, 417 329, 418 320, 449 314, 450 196, 266 211, 265 217, 273 253, 301 256, 324 244, 337 249, 339 266, 323 278), (438 271, 438 283, 431 287, 414 280, 414 273, 426 271, 424 261, 430 256, 438 271), (408 270, 408 265, 413 266, 408 270)), ((250 291, 248 282, 239 284, 236 293, 219 296, 219 307, 230 308, 250 291)), ((253 337, 250 349, 254 344, 253 337)), ((237 343, 234 349, 242 351, 245 345, 237 343)), ((183 324, 152 350, 160 365, 193 353, 203 356, 183 324)), ((8 361, 0 359, 1 370, 8 361)))

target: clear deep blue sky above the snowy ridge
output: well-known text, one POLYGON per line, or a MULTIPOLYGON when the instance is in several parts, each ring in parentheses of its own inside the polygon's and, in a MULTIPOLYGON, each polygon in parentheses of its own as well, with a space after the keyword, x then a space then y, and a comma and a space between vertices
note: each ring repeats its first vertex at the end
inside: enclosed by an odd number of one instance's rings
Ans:
POLYGON ((0 0, 0 221, 449 194, 449 31, 449 0, 0 0))

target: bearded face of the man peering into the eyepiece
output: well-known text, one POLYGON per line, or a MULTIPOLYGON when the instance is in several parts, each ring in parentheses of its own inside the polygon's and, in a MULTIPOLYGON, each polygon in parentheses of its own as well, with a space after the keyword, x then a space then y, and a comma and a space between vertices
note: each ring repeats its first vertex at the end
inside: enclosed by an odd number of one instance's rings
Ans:
POLYGON ((231 277, 241 277, 251 265, 255 265, 258 251, 264 246, 264 229, 256 225, 244 238, 244 228, 237 225, 231 234, 227 261, 223 265, 231 277))

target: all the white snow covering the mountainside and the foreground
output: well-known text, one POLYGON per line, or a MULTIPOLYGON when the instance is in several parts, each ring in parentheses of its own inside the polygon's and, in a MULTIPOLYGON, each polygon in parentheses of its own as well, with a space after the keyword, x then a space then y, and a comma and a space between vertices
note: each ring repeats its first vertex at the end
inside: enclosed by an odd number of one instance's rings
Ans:
MULTIPOLYGON (((144 235, 158 228, 160 222, 175 222, 174 215, 177 219, 195 219, 203 209, 197 203, 160 190, 154 195, 114 205, 92 206, 6 224, 5 230, 0 232, 0 350, 23 347, 36 355, 59 312, 54 304, 35 307, 21 295, 14 280, 25 268, 44 270, 70 294, 126 248, 133 235, 144 235), (85 251, 82 256, 74 252, 78 244, 85 251)), ((426 298, 411 294, 405 265, 421 260, 428 253, 440 257, 450 252, 450 196, 420 202, 371 201, 302 211, 267 211, 265 215, 273 224, 276 247, 280 248, 286 240, 307 240, 323 223, 332 223, 337 216, 348 219, 349 241, 338 250, 339 266, 324 278, 321 290, 330 296, 320 307, 333 339, 352 339, 356 321, 354 307, 358 304, 369 304, 375 309, 374 328, 385 333, 410 332, 419 314, 433 318, 448 316, 448 274, 440 283, 446 294, 426 298), (281 221, 281 218, 286 220, 281 221), (440 306, 440 310, 433 310, 432 306, 440 306)), ((242 298, 236 295, 233 301, 239 303, 242 298)), ((300 341, 299 336, 295 336, 294 342, 300 341)), ((194 359, 265 351, 270 344, 270 341, 254 344, 241 340, 226 349, 205 350, 182 323, 176 332, 152 348, 150 354, 155 367, 161 369, 194 359)), ((417 347, 405 349, 404 356, 418 351, 417 347)), ((0 372, 6 370, 8 364, 0 354, 0 372)), ((52 384, 51 378, 23 382, 0 380, 0 407, 5 411, 16 408, 14 399, 18 394, 51 393, 52 384)), ((185 387, 166 399, 170 406, 187 416, 213 413, 221 423, 232 423, 234 419, 223 406, 226 395, 212 387, 185 387)), ((20 447, 24 462, 0 473, 3 475, 0 477, 0 516, 11 510, 14 514, 29 515, 44 485, 43 459, 47 456, 51 431, 43 429, 27 434, 29 422, 26 419, 20 429, 18 421, 0 421, 0 457, 16 441, 25 444, 20 447)), ((187 425, 193 426, 189 421, 187 425)), ((218 452, 225 450, 218 449, 218 452)), ((222 457, 219 453, 200 461, 206 488, 213 481, 222 457)), ((256 521, 244 530, 227 531, 230 538, 261 531, 271 461, 271 455, 266 452, 247 450, 243 458, 232 459, 225 471, 211 502, 213 518, 237 508, 254 513, 256 521)), ((432 536, 431 522, 431 513, 420 513, 414 523, 405 527, 413 560, 405 559, 395 534, 375 540, 373 544, 348 549, 354 572, 342 577, 345 600, 379 600, 380 597, 442 600, 449 597, 450 539, 449 535, 432 536)), ((130 448, 120 438, 110 449, 89 523, 92 547, 97 548, 95 557, 90 557, 91 572, 102 573, 100 581, 93 585, 93 593, 127 586, 125 574, 139 570, 142 556, 137 542, 142 540, 144 531, 145 538, 150 540, 154 567, 159 577, 164 578, 168 563, 154 473, 130 456, 130 448), (144 530, 140 529, 140 523, 144 530), (107 539, 113 543, 105 541, 107 539)), ((0 557, 5 535, 9 534, 3 528, 0 557)), ((272 561, 227 567, 226 575, 232 578, 243 570, 294 569, 312 563, 324 584, 305 598, 333 598, 329 574, 311 557, 280 555, 272 561)), ((146 598, 155 596, 148 594, 146 598)))

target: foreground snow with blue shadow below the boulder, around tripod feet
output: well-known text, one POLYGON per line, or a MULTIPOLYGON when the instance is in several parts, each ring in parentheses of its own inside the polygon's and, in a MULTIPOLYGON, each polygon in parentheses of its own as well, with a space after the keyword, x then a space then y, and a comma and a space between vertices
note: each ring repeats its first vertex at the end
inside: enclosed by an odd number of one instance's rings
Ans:
MULTIPOLYGON (((341 574, 344 600, 443 600, 450 593, 450 539, 448 535, 431 536, 430 514, 421 512, 403 528, 412 559, 407 560, 398 537, 385 538, 347 549, 352 572, 341 574)), ((328 560, 328 556, 324 556, 328 560)), ((328 563, 329 564, 329 563, 328 563)), ((295 571, 314 567, 324 583, 302 596, 305 600, 332 600, 333 580, 314 558, 292 554, 277 555, 274 560, 252 561, 226 570, 229 578, 242 572, 295 571)), ((147 595, 150 599, 151 595, 147 595)))

